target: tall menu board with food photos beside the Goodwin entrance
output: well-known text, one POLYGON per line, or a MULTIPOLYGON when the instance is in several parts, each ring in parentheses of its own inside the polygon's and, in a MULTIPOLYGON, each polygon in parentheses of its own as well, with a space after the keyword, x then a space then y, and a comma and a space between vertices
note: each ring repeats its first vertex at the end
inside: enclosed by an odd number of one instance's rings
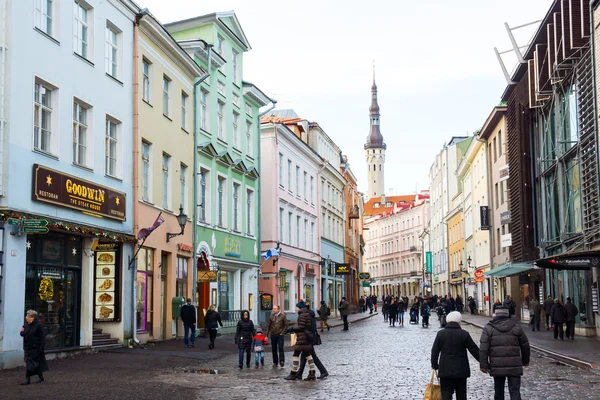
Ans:
POLYGON ((98 244, 94 260, 94 321, 120 321, 119 245, 98 244))

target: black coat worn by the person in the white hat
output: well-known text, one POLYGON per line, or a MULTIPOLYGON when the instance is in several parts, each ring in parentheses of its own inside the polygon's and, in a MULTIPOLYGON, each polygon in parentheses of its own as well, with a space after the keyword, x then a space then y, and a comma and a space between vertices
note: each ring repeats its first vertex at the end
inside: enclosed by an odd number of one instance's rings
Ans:
POLYGON ((467 350, 479 361, 479 348, 469 332, 461 329, 458 323, 450 322, 435 337, 431 348, 431 368, 438 370, 440 378, 468 378, 471 369, 467 350))

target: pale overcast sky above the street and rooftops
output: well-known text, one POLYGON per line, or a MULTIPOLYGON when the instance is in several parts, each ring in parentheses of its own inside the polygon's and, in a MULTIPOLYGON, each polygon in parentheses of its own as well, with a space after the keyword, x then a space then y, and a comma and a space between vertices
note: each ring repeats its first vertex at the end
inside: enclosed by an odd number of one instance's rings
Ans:
MULTIPOLYGON (((452 136, 481 128, 506 87, 493 48, 510 48, 504 23, 542 19, 552 0, 137 0, 162 23, 235 11, 252 49, 244 80, 318 122, 349 158, 366 192, 373 60, 386 194, 428 186, 452 136)), ((515 32, 527 43, 537 26, 515 32)), ((516 58, 505 56, 507 68, 516 58)))

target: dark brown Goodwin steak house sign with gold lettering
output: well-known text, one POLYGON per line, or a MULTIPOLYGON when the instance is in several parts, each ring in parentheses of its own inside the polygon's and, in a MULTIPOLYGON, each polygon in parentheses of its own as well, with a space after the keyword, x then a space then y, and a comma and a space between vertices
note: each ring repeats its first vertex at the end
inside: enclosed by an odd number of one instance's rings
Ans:
POLYGON ((33 164, 32 199, 97 217, 126 220, 123 192, 33 164))

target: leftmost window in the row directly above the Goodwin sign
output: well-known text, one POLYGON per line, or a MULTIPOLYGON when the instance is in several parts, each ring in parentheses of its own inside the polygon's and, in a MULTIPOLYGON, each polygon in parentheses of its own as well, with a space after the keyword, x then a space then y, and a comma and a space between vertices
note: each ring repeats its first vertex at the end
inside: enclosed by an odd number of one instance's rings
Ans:
POLYGON ((52 152, 52 89, 41 83, 35 84, 33 148, 52 152))

